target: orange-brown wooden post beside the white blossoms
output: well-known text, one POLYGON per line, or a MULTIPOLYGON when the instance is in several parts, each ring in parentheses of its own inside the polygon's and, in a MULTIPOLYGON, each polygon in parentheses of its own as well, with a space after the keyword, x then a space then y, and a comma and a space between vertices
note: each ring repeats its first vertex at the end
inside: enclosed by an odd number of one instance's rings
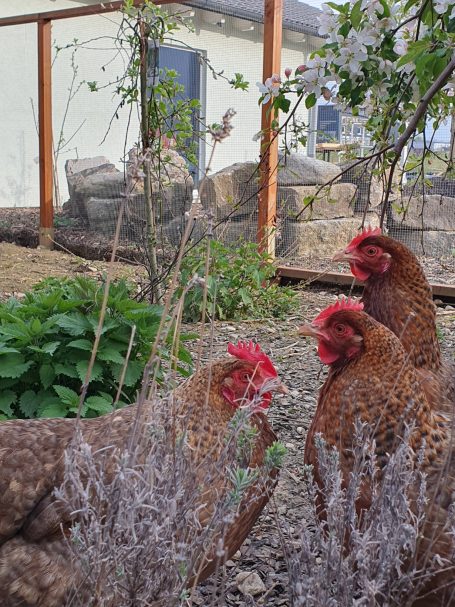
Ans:
MULTIPOLYGON (((263 81, 280 74, 283 0, 264 0, 263 81)), ((278 137, 274 139, 272 122, 277 116, 267 113, 270 102, 262 106, 260 192, 258 213, 259 249, 275 256, 278 137)))

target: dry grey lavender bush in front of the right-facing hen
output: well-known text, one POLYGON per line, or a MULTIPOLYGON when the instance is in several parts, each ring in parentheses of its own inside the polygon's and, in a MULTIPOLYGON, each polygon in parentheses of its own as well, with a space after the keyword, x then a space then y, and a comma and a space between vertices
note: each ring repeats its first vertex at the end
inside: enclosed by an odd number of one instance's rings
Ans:
POLYGON ((144 403, 130 450, 126 433, 125 448, 94 451, 79 428, 58 491, 75 520, 68 607, 186 604, 207 557, 224 563, 224 541, 240 509, 271 491, 282 453, 273 447, 262 469, 248 467, 255 432, 246 410, 220 437, 221 455, 202 458, 183 413, 172 397, 144 403))

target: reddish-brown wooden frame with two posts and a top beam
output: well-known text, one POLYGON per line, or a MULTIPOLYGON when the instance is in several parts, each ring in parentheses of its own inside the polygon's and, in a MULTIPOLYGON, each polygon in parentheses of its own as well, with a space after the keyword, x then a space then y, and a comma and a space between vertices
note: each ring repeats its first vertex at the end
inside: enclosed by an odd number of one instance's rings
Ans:
MULTIPOLYGON (((171 4, 175 0, 159 0, 171 4)), ((179 0, 185 3, 185 0, 179 0)), ((91 6, 17 15, 0 19, 0 27, 36 23, 38 28, 38 135, 40 180, 39 244, 51 249, 54 244, 53 152, 52 152, 52 21, 118 11, 123 0, 91 6)), ((141 5, 142 0, 135 0, 141 5)), ((263 79, 279 74, 281 67, 283 0, 264 0, 263 79)), ((278 139, 272 133, 272 112, 268 104, 262 108, 260 194, 258 209, 258 243, 262 250, 274 256, 276 224, 276 171, 278 139)))

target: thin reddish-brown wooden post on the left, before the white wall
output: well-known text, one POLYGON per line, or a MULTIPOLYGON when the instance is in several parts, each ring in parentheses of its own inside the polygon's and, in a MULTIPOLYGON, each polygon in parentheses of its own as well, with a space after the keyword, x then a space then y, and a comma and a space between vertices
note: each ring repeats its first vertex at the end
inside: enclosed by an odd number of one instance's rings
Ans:
POLYGON ((51 28, 49 19, 38 21, 39 244, 47 249, 54 244, 51 28))

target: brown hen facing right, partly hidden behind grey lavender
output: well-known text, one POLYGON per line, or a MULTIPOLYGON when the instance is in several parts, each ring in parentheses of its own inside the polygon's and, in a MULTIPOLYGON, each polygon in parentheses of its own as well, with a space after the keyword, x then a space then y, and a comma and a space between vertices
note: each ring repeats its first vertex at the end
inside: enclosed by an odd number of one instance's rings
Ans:
MULTIPOLYGON (((216 464, 225 452, 226 435, 235 412, 240 407, 251 412, 249 423, 257 434, 246 464, 256 468, 264 463, 266 449, 276 441, 265 415, 272 392, 286 391, 259 345, 229 344, 228 352, 232 358, 200 369, 163 401, 169 411, 173 410, 174 430, 186 432, 195 491, 202 485, 198 497, 201 533, 213 513, 213 503, 228 486, 225 478, 215 476, 220 475, 221 469, 216 464)), ((145 419, 152 408, 153 403, 146 401, 140 419, 145 419)), ((137 405, 133 405, 110 416, 81 420, 79 427, 94 450, 106 452, 105 447, 111 446, 122 451, 137 419, 137 405)), ((54 489, 63 481, 64 453, 77 423, 75 419, 40 419, 0 424, 2 607, 62 607, 72 592, 79 592, 79 585, 82 592, 80 572, 72 570, 62 535, 62 530, 68 533, 77 517, 70 516, 54 496, 54 489)), ((110 466, 109 458, 105 466, 110 466)), ((268 481, 256 481, 248 488, 224 537, 224 558, 230 558, 247 537, 273 491, 276 475, 277 471, 271 470, 268 481)), ((198 563, 197 581, 207 578, 216 565, 212 549, 198 563)))

